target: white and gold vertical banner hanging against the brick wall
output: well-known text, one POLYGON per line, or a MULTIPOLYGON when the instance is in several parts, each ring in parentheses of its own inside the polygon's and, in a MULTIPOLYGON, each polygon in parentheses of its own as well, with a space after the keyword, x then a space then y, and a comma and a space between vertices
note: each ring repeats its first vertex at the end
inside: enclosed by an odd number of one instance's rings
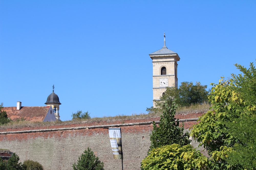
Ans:
POLYGON ((121 128, 109 128, 109 138, 114 159, 123 159, 121 128))

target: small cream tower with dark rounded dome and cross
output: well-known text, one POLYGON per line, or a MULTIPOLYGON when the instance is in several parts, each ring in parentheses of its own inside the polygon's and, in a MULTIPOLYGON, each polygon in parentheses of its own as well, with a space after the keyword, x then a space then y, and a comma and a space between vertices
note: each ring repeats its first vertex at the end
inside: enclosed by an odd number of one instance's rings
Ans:
POLYGON ((51 106, 55 117, 57 120, 60 120, 59 110, 60 110, 60 99, 58 95, 54 93, 54 85, 52 86, 52 93, 47 97, 47 101, 45 102, 46 106, 51 106))

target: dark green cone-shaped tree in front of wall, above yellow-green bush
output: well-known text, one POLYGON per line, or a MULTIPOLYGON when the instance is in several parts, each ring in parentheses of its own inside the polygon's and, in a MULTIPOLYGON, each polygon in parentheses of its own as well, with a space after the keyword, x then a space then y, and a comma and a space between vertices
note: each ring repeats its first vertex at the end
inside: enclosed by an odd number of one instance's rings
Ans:
POLYGON ((173 100, 170 104, 167 101, 165 102, 165 110, 160 116, 159 126, 153 121, 153 130, 150 135, 150 150, 173 143, 184 146, 191 142, 188 132, 184 134, 184 127, 179 127, 179 119, 176 120, 176 118, 174 118, 177 108, 175 101, 176 100, 173 100))

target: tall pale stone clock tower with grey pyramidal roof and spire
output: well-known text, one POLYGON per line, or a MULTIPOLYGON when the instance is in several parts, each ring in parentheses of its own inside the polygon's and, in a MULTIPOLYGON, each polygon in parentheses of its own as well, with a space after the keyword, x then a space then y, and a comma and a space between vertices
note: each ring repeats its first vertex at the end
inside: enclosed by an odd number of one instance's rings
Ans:
POLYGON ((153 60, 153 106, 154 100, 159 100, 163 96, 166 87, 178 87, 177 61, 180 60, 177 53, 169 50, 165 46, 162 49, 149 54, 153 60))

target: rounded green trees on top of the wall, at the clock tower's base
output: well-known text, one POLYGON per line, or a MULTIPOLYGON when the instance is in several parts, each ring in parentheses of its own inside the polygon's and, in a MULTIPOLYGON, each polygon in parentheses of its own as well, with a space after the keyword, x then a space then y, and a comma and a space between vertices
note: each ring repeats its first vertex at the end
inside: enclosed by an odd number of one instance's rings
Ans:
POLYGON ((167 87, 164 95, 160 97, 160 100, 155 100, 156 108, 147 108, 146 111, 159 111, 164 108, 164 102, 169 104, 176 99, 178 106, 190 106, 192 104, 202 104, 208 102, 207 85, 201 85, 200 82, 182 82, 179 88, 167 87))

